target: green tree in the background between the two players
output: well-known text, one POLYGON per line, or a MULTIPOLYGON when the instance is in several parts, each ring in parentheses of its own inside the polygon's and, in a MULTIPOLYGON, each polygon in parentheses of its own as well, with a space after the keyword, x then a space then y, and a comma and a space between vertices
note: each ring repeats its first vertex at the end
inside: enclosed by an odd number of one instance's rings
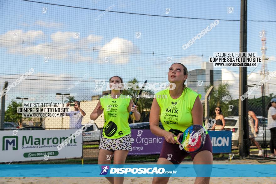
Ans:
MULTIPOLYGON (((137 79, 134 78, 131 81, 128 81, 128 83, 138 83, 137 79)), ((123 95, 138 95, 140 92, 140 90, 135 90, 134 88, 128 88, 125 89, 123 91, 121 91, 121 93, 123 95)), ((151 90, 143 90, 141 95, 154 95, 154 92, 152 92, 151 90)), ((132 98, 133 103, 135 103, 136 98, 132 98)), ((138 103, 137 103, 137 110, 138 112, 141 114, 141 118, 140 118, 140 122, 143 121, 148 121, 149 118, 149 114, 150 112, 148 110, 151 109, 151 103, 152 103, 152 98, 140 98, 138 103), (145 111, 144 111, 145 110, 145 111)), ((134 120, 133 120, 134 123, 134 120)))

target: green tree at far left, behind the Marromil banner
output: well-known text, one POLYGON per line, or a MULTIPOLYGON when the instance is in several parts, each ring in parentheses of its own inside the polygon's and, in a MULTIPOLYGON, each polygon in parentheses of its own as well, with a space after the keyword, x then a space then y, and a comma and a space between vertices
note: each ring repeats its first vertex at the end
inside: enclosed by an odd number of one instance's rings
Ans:
POLYGON ((20 119, 22 117, 21 113, 17 113, 17 107, 21 107, 22 103, 17 103, 12 100, 12 102, 8 105, 8 108, 5 112, 5 121, 6 122, 18 122, 20 123, 20 119))

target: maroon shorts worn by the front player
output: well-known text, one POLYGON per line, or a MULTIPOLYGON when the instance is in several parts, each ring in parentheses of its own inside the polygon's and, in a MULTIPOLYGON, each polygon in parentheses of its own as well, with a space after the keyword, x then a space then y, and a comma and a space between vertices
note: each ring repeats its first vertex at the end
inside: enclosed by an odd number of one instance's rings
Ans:
POLYGON ((206 135, 206 141, 202 149, 195 153, 188 153, 184 149, 180 150, 178 144, 168 143, 164 140, 159 158, 170 160, 173 164, 180 164, 188 155, 191 155, 192 160, 194 160, 194 156, 203 150, 208 150, 213 153, 212 142, 209 134, 206 135))

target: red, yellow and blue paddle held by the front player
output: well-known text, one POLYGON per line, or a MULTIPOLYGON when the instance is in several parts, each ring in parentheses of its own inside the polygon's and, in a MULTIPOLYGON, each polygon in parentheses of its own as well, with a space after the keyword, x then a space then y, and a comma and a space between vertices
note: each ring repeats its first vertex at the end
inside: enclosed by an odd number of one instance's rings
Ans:
MULTIPOLYGON (((174 137, 177 140, 177 137, 174 137)), ((189 126, 178 141, 181 143, 183 149, 188 153, 195 153, 201 150, 205 144, 206 132, 201 125, 189 126)))

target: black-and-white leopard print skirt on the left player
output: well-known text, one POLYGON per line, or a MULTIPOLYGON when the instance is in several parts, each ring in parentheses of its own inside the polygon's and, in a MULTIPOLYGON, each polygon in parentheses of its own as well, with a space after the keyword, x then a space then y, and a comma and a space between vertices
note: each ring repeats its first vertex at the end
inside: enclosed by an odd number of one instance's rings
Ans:
POLYGON ((108 139, 102 136, 99 149, 110 150, 110 151, 115 151, 115 150, 132 151, 131 134, 127 134, 117 139, 108 139))

